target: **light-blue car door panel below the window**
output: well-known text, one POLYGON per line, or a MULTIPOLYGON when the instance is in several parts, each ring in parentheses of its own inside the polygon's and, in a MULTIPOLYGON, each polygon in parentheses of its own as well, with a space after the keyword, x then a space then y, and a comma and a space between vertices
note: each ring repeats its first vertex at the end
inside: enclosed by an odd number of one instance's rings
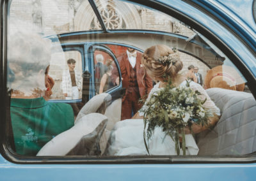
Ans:
POLYGON ((255 164, 13 164, 1 180, 255 180, 255 164))

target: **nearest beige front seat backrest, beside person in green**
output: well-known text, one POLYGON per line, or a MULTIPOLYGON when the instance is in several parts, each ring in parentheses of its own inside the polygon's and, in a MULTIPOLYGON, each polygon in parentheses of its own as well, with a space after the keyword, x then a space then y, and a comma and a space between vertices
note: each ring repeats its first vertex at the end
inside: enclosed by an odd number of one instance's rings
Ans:
POLYGON ((100 113, 84 115, 73 127, 46 143, 36 156, 95 155, 99 149, 93 149, 99 148, 107 121, 108 118, 100 113))

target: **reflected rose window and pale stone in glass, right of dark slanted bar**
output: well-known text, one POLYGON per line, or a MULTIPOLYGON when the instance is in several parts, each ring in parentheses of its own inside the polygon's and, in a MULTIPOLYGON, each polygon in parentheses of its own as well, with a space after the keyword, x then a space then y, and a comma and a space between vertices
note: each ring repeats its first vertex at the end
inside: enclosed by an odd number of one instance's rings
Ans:
POLYGON ((194 34, 184 23, 160 11, 116 0, 95 3, 107 29, 145 29, 186 36, 194 34))

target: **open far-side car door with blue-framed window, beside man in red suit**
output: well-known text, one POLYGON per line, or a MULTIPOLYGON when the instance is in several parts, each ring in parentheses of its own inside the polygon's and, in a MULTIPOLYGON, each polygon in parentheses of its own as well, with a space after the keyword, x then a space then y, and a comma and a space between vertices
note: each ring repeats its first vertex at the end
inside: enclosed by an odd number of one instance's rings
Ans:
POLYGON ((88 47, 88 60, 90 60, 89 69, 91 70, 90 72, 92 72, 89 99, 103 92, 110 94, 111 106, 116 108, 115 115, 112 115, 111 117, 112 119, 120 120, 122 96, 124 96, 125 89, 122 88, 122 76, 118 61, 111 49, 107 46, 91 44, 88 45, 88 47), (119 85, 113 80, 113 69, 117 72, 115 78, 118 77, 120 79, 119 85), (102 78, 106 78, 106 80, 103 82, 102 78))

